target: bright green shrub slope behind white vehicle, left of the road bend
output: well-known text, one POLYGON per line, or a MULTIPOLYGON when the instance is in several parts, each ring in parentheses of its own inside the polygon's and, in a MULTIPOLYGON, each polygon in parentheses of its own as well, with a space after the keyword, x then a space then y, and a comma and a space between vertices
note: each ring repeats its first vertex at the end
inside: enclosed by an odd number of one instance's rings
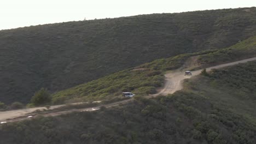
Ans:
POLYGON ((65 100, 109 100, 121 98, 121 92, 134 92, 137 95, 156 93, 155 88, 162 86, 164 75, 156 70, 123 70, 118 73, 94 80, 83 85, 53 94, 53 104, 65 100))

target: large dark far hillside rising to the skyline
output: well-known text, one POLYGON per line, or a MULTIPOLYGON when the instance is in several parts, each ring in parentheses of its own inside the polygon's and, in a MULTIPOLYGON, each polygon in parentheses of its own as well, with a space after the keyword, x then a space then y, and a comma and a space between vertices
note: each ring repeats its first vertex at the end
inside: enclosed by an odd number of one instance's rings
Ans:
POLYGON ((256 8, 151 14, 0 31, 0 101, 76 86, 159 58, 222 49, 256 31, 256 8))

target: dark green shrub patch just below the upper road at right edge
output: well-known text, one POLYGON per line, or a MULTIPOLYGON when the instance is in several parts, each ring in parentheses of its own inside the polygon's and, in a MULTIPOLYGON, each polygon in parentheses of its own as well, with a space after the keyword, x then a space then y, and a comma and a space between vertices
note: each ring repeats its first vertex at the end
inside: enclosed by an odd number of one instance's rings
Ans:
POLYGON ((228 87, 242 100, 256 100, 256 62, 240 64, 236 67, 214 69, 210 75, 219 86, 228 87))

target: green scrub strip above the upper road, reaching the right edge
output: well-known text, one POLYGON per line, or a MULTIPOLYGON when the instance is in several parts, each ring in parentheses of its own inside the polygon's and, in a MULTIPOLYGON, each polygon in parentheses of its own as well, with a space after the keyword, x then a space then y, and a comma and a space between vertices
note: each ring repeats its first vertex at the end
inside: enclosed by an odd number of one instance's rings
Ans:
POLYGON ((256 37, 250 37, 225 49, 206 50, 185 53, 170 58, 156 59, 153 62, 139 65, 137 68, 152 70, 174 70, 179 68, 201 69, 227 62, 256 56, 256 37))

